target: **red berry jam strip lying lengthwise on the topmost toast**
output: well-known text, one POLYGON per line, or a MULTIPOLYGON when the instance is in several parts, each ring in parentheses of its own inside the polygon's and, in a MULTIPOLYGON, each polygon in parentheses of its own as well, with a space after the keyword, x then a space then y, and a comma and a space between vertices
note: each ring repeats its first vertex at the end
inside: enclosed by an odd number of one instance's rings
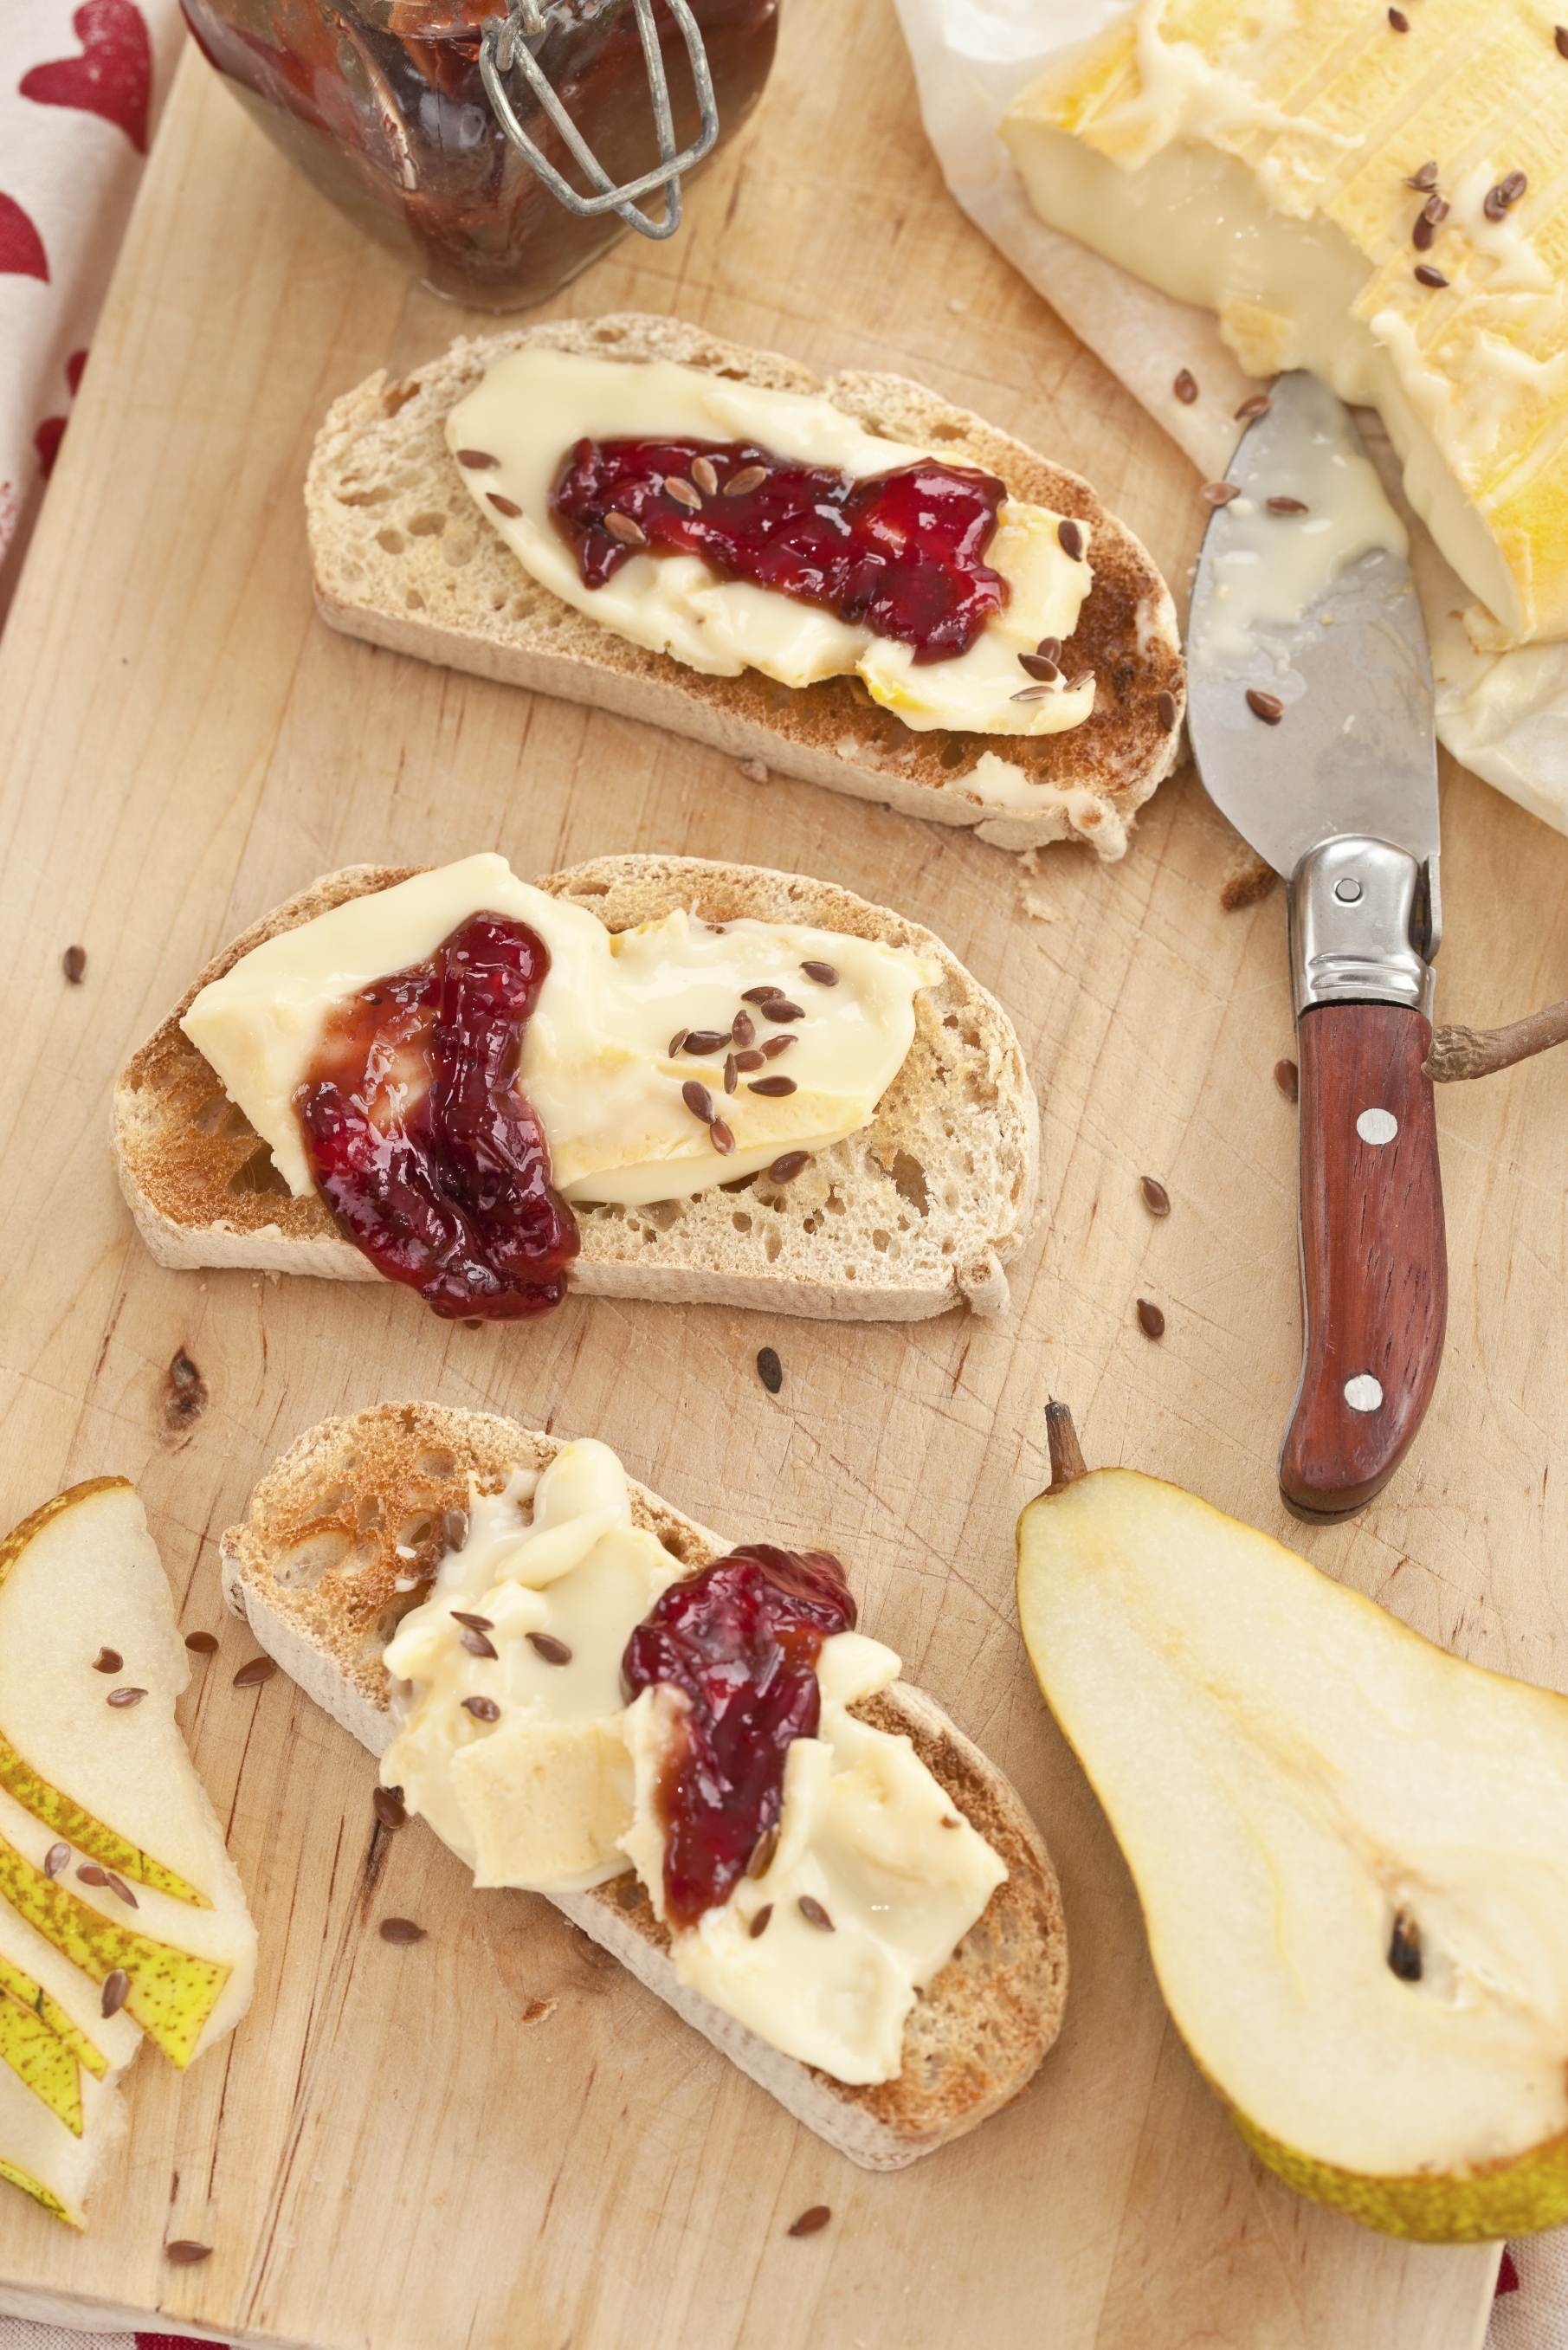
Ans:
POLYGON ((755 442, 581 439, 550 508, 585 588, 644 548, 701 555, 926 663, 966 653, 1006 604, 1006 580, 983 562, 1004 498, 997 475, 936 458, 851 482, 755 442))

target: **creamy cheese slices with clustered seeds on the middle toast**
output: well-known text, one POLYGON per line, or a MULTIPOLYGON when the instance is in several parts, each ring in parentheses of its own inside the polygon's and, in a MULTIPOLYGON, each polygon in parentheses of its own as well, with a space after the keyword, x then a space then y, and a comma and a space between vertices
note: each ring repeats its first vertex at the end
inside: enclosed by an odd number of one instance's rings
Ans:
POLYGON ((804 924, 738 919, 722 926, 677 909, 611 933, 581 905, 517 881, 505 858, 475 855, 350 898, 284 931, 214 980, 181 1027, 226 1093, 270 1144, 296 1198, 315 1189, 294 1093, 334 1003, 428 961, 470 914, 522 921, 550 949, 550 973, 524 1029, 522 1090, 550 1149, 550 1180, 574 1201, 639 1206, 682 1198, 769 1166, 780 1152, 825 1149, 867 1126, 914 1041, 914 994, 940 975, 910 949, 804 924), (809 978, 832 964, 837 985, 809 978), (724 1093, 724 1053, 670 1058, 682 1029, 729 1034, 741 999, 780 987, 804 1018, 780 1060, 724 1093), (788 1067, 783 1067, 788 1065, 788 1067), (750 1090, 788 1074, 783 1100, 750 1090), (682 1100, 708 1086, 736 1137, 719 1156, 682 1100))

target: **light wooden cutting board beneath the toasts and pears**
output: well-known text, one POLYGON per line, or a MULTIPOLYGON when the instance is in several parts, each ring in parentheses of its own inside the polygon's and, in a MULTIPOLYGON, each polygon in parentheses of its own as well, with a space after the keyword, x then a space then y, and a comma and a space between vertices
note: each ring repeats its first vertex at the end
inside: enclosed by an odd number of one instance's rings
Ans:
MULTIPOLYGON (((555 308, 628 306, 924 378, 1093 475, 1185 588, 1206 512, 1187 463, 947 200, 875 0, 788 0, 766 101, 684 233, 623 242, 555 308)), ((1495 2251, 1401 2247, 1298 2202, 1201 2087, 1030 1678, 1011 1535, 1058 1394, 1091 1462, 1190 1485, 1455 1650, 1568 1685, 1568 1055, 1439 1097, 1434 1410, 1361 1520, 1291 1525, 1272 1473, 1300 1344, 1281 895, 1220 909, 1234 839, 1190 773, 1126 862, 1053 848, 1027 872, 334 637, 310 606, 310 435, 371 367, 465 324, 186 61, 0 651, 0 1523, 99 1471, 143 1492, 183 1626, 223 1640, 183 1723, 261 1976, 188 2080, 141 2059, 87 2237, 0 2190, 0 2305, 317 2350, 1472 2350, 1495 2251), (522 874, 616 848, 780 865, 940 931, 1011 1008, 1044 1102, 1013 1311, 907 1330, 571 1302, 473 1332, 393 1288, 150 1264, 106 1154, 127 1048, 313 874, 489 846, 522 874), (1159 1344, 1138 1297, 1166 1311, 1159 1344), (205 1382, 193 1417, 179 1349, 205 1382), (1016 2108, 903 2176, 851 2169, 548 1904, 473 1894, 421 1826, 376 1835, 369 1758, 282 1676, 233 1687, 252 1643, 221 1612, 219 1530, 301 1429, 397 1396, 597 1434, 696 1518, 849 1560, 867 1629, 1013 1774, 1060 1866, 1070 2014, 1016 2108), (428 1939, 390 1948, 388 1913, 428 1939), (790 2240, 816 2202, 832 2225, 790 2240), (214 2254, 174 2270, 174 2237, 214 2254)), ((1446 1015, 1568 994, 1568 841, 1455 771, 1443 834, 1446 1015)))

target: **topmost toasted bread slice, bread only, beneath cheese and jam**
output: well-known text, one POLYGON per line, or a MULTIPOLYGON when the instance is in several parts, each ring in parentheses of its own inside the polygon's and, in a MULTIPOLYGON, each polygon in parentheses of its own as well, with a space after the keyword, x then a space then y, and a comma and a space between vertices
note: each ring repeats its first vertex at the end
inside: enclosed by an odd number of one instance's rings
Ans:
POLYGON ((1178 759, 1185 672, 1175 609, 1145 548, 1077 472, 903 376, 844 371, 820 381, 778 352, 743 350, 682 320, 639 313, 458 341, 400 383, 376 374, 334 402, 310 458, 306 522, 317 606, 350 637, 649 719, 905 815, 978 825, 980 839, 999 848, 1081 839, 1119 858, 1133 811, 1178 759), (571 611, 475 510, 444 437, 456 402, 522 345, 675 360, 769 390, 820 395, 867 432, 980 465, 1001 475, 1016 498, 1086 522, 1093 590, 1070 658, 1098 677, 1093 717, 1070 733, 1034 738, 914 733, 877 707, 860 679, 790 689, 757 670, 701 677, 571 611), (1173 700, 1161 721, 1164 693, 1173 700), (1027 806, 999 806, 994 785, 985 799, 985 776, 976 776, 985 759, 1025 778, 1027 806))

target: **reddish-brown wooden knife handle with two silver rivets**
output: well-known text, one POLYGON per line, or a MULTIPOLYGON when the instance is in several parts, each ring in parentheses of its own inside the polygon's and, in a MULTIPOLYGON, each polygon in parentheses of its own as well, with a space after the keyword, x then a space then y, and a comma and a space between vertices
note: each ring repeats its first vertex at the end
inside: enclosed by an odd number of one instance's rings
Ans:
POLYGON ((1298 1518, 1347 1518, 1422 1424, 1448 1323, 1432 1027, 1394 1003, 1319 1003, 1295 1029, 1302 1384, 1279 1448, 1298 1518))

